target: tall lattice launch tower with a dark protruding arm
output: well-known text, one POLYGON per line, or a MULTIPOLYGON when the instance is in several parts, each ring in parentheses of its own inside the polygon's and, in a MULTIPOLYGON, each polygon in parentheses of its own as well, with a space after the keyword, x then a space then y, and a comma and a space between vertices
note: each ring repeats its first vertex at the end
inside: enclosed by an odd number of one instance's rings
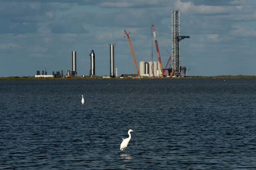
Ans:
POLYGON ((180 36, 180 11, 172 10, 172 74, 171 76, 180 76, 186 72, 186 67, 180 66, 180 41, 190 36, 180 36))

